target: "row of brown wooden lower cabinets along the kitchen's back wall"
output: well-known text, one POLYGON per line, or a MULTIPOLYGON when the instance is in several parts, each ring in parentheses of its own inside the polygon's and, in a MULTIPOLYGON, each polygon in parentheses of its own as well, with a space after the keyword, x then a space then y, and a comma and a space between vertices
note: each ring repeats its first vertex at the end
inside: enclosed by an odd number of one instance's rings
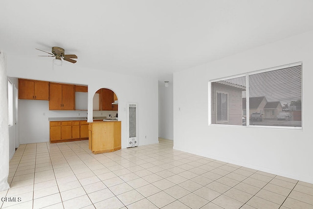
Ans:
POLYGON ((50 143, 87 140, 88 123, 84 120, 50 121, 50 143))

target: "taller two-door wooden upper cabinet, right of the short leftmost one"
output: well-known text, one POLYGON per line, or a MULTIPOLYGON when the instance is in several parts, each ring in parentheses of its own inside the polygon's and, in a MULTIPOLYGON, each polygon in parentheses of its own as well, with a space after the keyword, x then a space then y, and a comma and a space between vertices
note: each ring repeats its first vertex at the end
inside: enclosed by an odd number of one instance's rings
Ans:
POLYGON ((74 85, 50 83, 49 110, 75 110, 74 85))

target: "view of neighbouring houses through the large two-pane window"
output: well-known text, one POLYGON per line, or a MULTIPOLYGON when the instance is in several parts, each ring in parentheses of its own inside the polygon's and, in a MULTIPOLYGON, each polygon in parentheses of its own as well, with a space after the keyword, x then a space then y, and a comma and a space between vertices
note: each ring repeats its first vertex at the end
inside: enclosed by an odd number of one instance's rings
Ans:
POLYGON ((302 63, 209 82, 210 124, 302 128, 302 63))

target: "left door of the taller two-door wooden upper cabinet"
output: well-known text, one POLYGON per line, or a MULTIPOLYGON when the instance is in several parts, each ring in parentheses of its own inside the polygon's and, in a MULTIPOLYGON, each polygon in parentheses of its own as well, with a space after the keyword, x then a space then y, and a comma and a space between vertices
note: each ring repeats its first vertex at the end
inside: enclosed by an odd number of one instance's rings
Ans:
POLYGON ((62 85, 50 83, 49 110, 62 110, 62 85))

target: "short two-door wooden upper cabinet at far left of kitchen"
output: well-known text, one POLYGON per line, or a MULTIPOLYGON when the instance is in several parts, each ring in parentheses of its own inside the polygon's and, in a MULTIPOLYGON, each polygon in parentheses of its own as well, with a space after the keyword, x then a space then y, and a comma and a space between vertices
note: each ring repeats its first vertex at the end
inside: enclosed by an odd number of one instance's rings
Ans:
POLYGON ((19 79, 19 99, 49 100, 49 82, 19 79))

